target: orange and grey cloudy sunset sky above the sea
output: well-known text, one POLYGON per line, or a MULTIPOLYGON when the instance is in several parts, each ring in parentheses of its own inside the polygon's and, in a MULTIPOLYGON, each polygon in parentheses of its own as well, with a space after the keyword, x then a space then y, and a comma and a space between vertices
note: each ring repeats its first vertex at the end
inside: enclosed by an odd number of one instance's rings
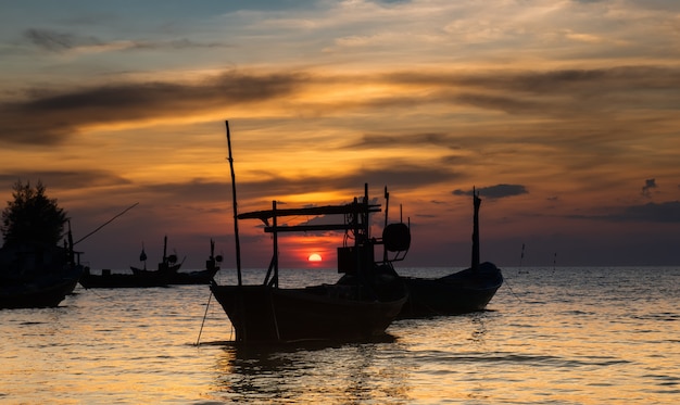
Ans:
MULTIPOLYGON (((680 263, 680 2, 0 0, 0 202, 47 187, 93 269, 236 265, 238 212, 382 204, 400 266, 680 263)), ((289 225, 319 218, 287 218, 289 225)), ((238 223, 243 267, 270 236, 238 223)), ((286 235, 282 267, 340 235, 286 235)), ((322 262, 308 263, 312 253, 322 262)))

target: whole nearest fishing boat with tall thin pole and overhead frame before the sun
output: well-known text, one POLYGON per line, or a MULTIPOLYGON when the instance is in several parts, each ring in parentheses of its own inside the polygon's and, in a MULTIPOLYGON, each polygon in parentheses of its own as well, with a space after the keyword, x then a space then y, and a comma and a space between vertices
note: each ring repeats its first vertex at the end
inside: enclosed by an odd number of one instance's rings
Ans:
MULTIPOLYGON (((227 139, 234 186, 228 125, 227 139)), ((211 291, 231 320, 236 341, 364 340, 383 334, 406 301, 406 292, 392 263, 387 260, 376 263, 374 260, 374 246, 383 242, 369 235, 369 217, 379 211, 380 205, 368 203, 366 187, 362 201, 354 199, 344 205, 279 210, 274 201, 272 210, 237 215, 234 186, 238 284, 213 282, 211 291), (284 217, 319 215, 340 219, 332 224, 279 225, 284 217), (241 282, 238 222, 250 218, 261 219, 265 232, 273 235, 274 253, 264 283, 244 286, 241 282), (345 232, 345 245, 338 248, 338 271, 344 276, 337 283, 279 287, 280 232, 338 230, 345 232), (347 243, 350 239, 354 240, 352 245, 347 243)), ((405 229, 407 231, 407 227, 405 229)))

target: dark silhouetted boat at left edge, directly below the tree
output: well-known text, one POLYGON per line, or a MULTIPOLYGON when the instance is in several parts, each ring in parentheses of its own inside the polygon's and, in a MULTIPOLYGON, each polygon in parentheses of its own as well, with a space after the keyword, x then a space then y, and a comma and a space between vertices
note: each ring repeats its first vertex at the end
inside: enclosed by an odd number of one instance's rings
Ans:
POLYGON ((71 294, 83 274, 79 254, 64 248, 24 242, 0 249, 0 308, 52 307, 71 294))

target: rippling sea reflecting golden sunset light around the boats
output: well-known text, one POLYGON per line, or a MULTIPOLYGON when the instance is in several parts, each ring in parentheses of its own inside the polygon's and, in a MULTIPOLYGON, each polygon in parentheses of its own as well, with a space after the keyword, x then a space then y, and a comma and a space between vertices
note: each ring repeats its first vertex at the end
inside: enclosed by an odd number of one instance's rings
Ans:
MULTIPOLYGON (((370 342, 275 346, 235 344, 207 286, 77 287, 56 308, 0 311, 0 403, 680 403, 679 267, 503 274, 484 312, 398 320, 370 342)), ((295 287, 338 274, 279 277, 295 287)), ((218 280, 236 282, 234 270, 218 280)))

